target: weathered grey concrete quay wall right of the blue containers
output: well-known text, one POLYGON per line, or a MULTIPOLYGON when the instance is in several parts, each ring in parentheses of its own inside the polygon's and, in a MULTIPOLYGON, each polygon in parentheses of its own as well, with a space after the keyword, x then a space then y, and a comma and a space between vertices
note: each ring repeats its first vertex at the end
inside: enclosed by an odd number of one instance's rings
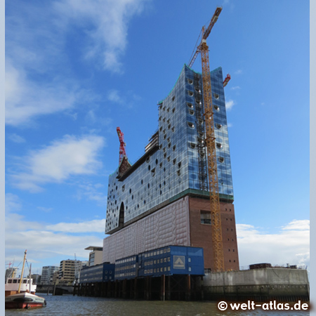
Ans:
POLYGON ((309 301, 307 270, 262 268, 213 272, 204 276, 204 299, 309 301))

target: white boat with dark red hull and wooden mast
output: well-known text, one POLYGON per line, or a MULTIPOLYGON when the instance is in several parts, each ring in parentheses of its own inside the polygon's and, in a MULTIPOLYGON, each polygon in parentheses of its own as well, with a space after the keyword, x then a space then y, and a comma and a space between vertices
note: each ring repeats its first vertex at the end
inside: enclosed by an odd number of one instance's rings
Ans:
POLYGON ((24 278, 27 250, 24 253, 21 277, 8 277, 5 284, 5 308, 41 308, 46 306, 45 298, 35 295, 37 285, 33 284, 31 277, 31 266, 29 268, 29 278, 24 278))

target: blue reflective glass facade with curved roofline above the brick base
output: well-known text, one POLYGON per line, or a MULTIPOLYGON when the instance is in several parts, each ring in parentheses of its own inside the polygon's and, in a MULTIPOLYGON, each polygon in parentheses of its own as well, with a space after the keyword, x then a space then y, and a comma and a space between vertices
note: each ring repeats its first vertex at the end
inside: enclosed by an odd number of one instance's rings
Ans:
MULTIPOLYGON (((218 189, 221 199, 232 201, 228 126, 220 67, 211 72, 211 85, 218 189)), ((143 159, 131 167, 129 176, 119 175, 117 169, 109 177, 105 233, 115 232, 121 223, 168 203, 186 190, 207 194, 206 149, 202 146, 202 75, 185 65, 171 93, 158 103, 158 107, 159 147, 146 152, 143 159)))

